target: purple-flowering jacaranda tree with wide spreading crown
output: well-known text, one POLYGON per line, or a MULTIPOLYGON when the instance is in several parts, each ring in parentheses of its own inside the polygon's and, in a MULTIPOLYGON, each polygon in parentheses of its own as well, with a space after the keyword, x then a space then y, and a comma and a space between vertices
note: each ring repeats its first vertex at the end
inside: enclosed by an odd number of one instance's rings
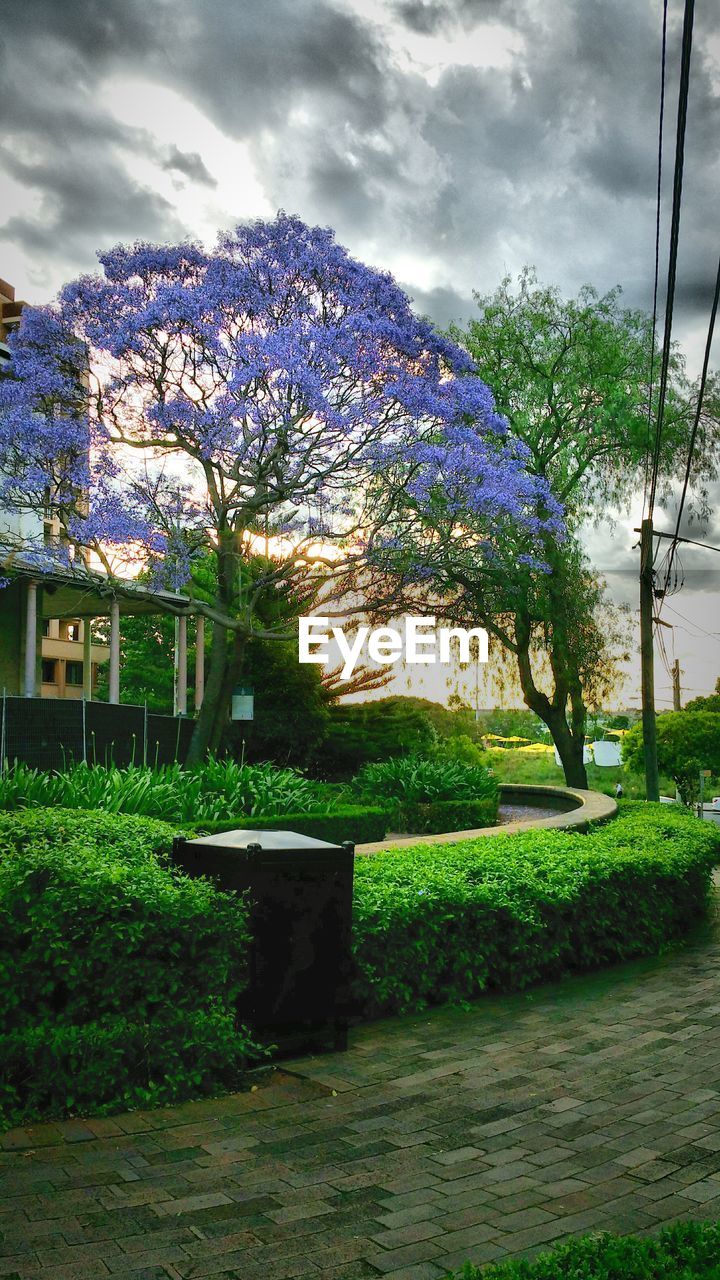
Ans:
POLYGON ((279 214, 214 252, 133 244, 100 262, 13 343, 0 503, 42 500, 109 572, 109 547, 142 548, 215 623, 197 760, 219 745, 247 637, 269 634, 260 599, 302 591, 333 540, 357 552, 389 458, 439 476, 471 454, 489 522, 530 529, 538 488, 469 357, 331 230, 279 214), (208 553, 215 586, 193 591, 208 553))

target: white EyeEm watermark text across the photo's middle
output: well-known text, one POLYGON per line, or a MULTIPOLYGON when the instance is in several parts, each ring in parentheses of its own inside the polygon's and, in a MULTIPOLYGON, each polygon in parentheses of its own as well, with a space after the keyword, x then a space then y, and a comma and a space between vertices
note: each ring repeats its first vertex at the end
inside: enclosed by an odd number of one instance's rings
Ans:
MULTIPOLYGON (((405 618, 405 631, 395 627, 357 627, 347 640, 342 627, 331 627, 329 618, 300 618, 300 662, 329 663, 328 644, 334 640, 343 659, 342 680, 350 680, 365 645, 372 662, 391 666, 402 658, 406 663, 470 662, 470 641, 477 641, 477 660, 488 660, 488 634, 484 627, 436 627, 434 617, 405 618), (457 654, 451 654, 452 641, 457 654)), ((473 655, 475 658, 475 655, 473 655)))

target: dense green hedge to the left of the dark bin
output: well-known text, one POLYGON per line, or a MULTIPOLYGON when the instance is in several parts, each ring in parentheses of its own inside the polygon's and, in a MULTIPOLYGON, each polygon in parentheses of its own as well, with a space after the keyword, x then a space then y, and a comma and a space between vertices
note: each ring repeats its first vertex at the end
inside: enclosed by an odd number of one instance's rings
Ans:
POLYGON ((118 814, 0 815, 6 1117, 170 1101, 240 1078, 247 913, 163 867, 173 833, 118 814))

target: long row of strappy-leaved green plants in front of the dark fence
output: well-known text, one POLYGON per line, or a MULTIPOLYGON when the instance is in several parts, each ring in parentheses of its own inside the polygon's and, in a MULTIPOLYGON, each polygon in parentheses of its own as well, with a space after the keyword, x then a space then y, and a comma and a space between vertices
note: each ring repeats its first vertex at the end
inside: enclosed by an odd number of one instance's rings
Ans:
POLYGON ((61 805, 165 822, 215 822, 243 813, 305 813, 323 801, 319 783, 268 763, 208 760, 195 769, 74 764, 42 773, 15 762, 0 776, 0 809, 61 805))

